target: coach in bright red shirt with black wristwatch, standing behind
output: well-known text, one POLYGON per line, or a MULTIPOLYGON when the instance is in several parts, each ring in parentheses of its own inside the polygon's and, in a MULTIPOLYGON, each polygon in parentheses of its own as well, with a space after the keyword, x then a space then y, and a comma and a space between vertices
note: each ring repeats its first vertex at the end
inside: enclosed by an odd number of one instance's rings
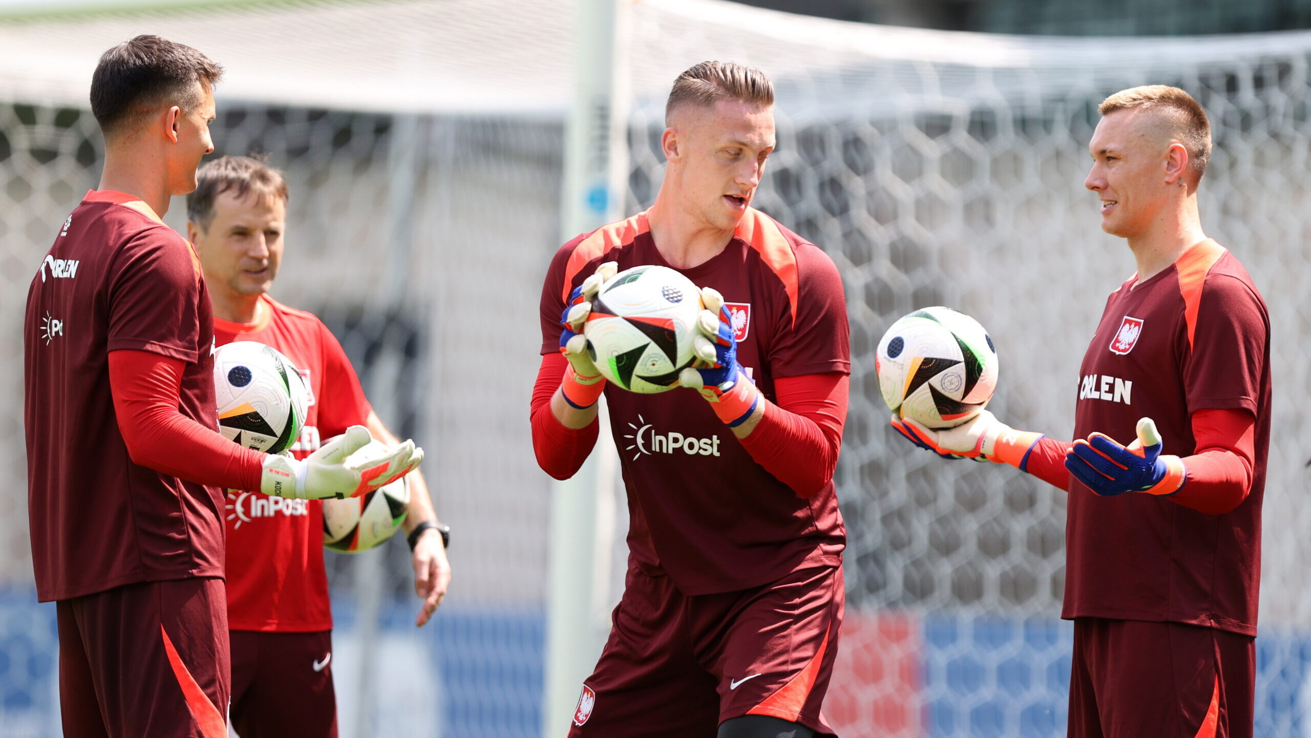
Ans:
MULTIPOLYGON (((282 351, 309 388, 298 457, 353 425, 396 438, 374 413, 341 343, 312 313, 267 295, 282 265, 287 182, 248 156, 222 156, 197 174, 186 197, 186 232, 201 257, 214 304, 214 340, 258 341, 282 351)), ((423 625, 446 595, 451 568, 444 526, 427 485, 410 475, 405 532, 423 625)), ((232 640, 232 726, 241 738, 337 735, 332 676, 332 607, 324 572, 323 503, 228 490, 227 594, 232 640)))

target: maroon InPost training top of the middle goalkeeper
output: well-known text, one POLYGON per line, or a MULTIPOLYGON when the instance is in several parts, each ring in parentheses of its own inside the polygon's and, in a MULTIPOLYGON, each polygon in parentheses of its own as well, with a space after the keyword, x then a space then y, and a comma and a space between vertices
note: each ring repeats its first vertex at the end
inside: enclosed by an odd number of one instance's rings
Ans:
MULTIPOLYGON (((670 266, 646 214, 561 246, 541 291, 541 354, 560 350, 569 292, 604 261, 670 266)), ((851 371, 847 308, 832 261, 763 212, 747 208, 728 246, 679 269, 724 295, 738 362, 777 402, 775 379, 851 371)), ((687 595, 743 590, 806 566, 842 561, 847 534, 832 481, 810 498, 751 459, 709 404, 690 389, 637 395, 606 387, 628 492, 628 548, 649 574, 687 595)))

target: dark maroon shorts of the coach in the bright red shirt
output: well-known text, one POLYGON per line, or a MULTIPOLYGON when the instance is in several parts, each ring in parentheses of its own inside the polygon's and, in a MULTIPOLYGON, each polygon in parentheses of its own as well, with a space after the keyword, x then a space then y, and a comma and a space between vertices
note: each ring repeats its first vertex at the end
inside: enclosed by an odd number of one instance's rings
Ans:
POLYGON ((337 738, 332 631, 232 631, 232 728, 241 738, 337 738))

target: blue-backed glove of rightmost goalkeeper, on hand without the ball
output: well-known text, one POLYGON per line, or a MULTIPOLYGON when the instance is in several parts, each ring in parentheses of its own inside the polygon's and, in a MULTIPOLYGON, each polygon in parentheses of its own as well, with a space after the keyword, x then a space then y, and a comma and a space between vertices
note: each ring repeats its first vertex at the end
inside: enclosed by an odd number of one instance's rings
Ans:
POLYGON ((1163 456, 1160 433, 1151 418, 1138 421, 1138 438, 1127 447, 1095 433, 1074 442, 1066 468, 1092 492, 1112 497, 1126 492, 1175 494, 1188 473, 1179 456, 1163 456))

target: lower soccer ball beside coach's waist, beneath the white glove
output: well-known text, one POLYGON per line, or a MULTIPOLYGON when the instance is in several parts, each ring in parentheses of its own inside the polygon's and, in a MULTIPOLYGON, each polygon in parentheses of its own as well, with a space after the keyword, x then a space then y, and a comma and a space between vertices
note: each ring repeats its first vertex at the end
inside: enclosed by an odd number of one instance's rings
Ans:
MULTIPOLYGON (((368 442, 347 461, 376 459, 387 451, 379 440, 368 442)), ((324 499, 324 545, 343 553, 359 553, 387 543, 409 513, 409 477, 347 499, 324 499)))

